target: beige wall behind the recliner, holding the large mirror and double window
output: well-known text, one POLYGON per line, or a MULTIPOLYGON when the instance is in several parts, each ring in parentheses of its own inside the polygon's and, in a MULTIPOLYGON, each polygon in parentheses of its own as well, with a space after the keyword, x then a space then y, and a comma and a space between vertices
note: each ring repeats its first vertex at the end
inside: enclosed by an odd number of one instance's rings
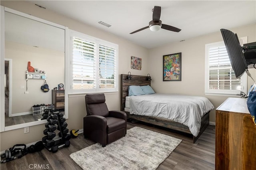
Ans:
MULTIPOLYGON (((26 14, 31 14, 38 18, 54 22, 63 26, 67 26, 69 29, 82 32, 89 36, 94 36, 102 40, 106 40, 112 43, 116 43, 119 46, 118 51, 118 71, 120 74, 126 74, 131 71, 133 75, 147 75, 148 74, 148 49, 136 45, 130 41, 114 36, 110 33, 104 32, 97 28, 82 24, 76 20, 64 17, 62 15, 56 14, 49 10, 39 8, 32 3, 24 1, 0 1, 2 6, 24 12, 26 14), (130 57, 140 57, 142 58, 142 70, 135 70, 130 68, 130 57)), ((33 62, 34 63, 34 62, 33 62)), ((33 64, 32 63, 32 64, 33 64)), ((39 66, 38 66, 39 67, 39 66)), ((49 73, 47 73, 48 75, 49 73)), ((119 76, 120 77, 120 76, 119 76)), ((120 84, 120 80, 119 80, 120 84)), ((118 85, 119 85, 118 84, 118 85)), ((53 87, 52 87, 53 88, 53 87)), ((120 87, 119 87, 120 89, 120 87)), ((120 109, 120 93, 106 93, 106 103, 108 109, 120 109)), ((83 95, 69 95, 68 102, 69 119, 67 120, 68 128, 71 129, 81 129, 83 128, 83 117, 86 115, 84 94, 83 95)), ((6 132, 1 132, 1 145, 0 150, 6 150, 12 147, 14 144, 24 143, 28 144, 38 140, 42 140, 44 136, 43 130, 44 125, 36 125, 30 127, 30 132, 24 134, 24 128, 10 130, 6 132)), ((82 135, 82 134, 81 134, 82 135)))

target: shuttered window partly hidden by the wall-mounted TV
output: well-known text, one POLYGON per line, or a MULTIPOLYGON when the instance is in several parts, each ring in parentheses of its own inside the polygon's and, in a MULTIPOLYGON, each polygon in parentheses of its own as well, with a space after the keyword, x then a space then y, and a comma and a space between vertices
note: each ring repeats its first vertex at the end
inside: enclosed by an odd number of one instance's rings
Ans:
MULTIPOLYGON (((247 43, 247 37, 239 39, 241 45, 247 43)), ((224 42, 205 45, 206 83, 205 93, 236 95, 246 93, 246 75, 236 79, 230 64, 224 42)))

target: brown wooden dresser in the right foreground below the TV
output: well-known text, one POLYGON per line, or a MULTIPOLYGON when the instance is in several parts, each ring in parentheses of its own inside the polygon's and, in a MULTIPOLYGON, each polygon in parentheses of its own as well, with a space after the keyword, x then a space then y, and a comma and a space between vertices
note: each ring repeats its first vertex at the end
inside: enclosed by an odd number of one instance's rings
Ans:
POLYGON ((256 169, 256 126, 246 99, 228 98, 216 109, 216 170, 256 169))

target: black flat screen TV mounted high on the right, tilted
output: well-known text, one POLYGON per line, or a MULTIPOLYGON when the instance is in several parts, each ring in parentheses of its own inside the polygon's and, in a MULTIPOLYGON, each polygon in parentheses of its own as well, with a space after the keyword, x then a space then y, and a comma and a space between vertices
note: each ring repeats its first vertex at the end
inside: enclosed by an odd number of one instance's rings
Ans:
POLYGON ((220 32, 228 52, 232 69, 238 79, 248 69, 238 36, 232 31, 226 29, 220 29, 220 32))

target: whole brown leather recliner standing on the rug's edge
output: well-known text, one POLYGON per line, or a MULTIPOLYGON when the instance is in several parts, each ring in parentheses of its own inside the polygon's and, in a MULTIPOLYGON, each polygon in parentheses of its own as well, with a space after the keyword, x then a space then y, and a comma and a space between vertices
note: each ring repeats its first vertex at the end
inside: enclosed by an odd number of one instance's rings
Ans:
POLYGON ((84 137, 106 144, 126 135, 127 116, 123 111, 108 111, 104 93, 85 95, 87 116, 84 117, 84 137))

